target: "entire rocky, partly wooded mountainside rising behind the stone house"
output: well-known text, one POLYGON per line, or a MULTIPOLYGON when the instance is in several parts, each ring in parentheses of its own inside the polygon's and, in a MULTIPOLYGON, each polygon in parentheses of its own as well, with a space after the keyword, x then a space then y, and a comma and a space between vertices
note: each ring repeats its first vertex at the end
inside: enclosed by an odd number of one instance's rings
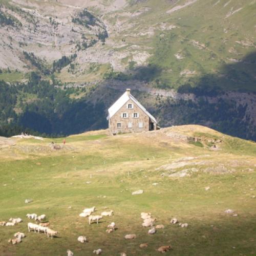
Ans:
POLYGON ((254 0, 0 3, 0 134, 106 128, 131 87, 162 127, 256 140, 254 0))

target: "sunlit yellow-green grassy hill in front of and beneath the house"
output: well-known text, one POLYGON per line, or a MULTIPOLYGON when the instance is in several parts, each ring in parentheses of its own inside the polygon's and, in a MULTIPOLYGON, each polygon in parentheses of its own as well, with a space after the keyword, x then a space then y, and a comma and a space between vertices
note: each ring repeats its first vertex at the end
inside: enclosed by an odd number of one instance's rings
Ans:
POLYGON ((65 255, 67 249, 91 255, 98 248, 104 255, 157 255, 161 245, 172 245, 166 255, 256 253, 255 143, 196 125, 116 137, 90 132, 67 137, 66 145, 62 138, 54 141, 59 150, 50 139, 0 138, 0 221, 24 220, 0 226, 2 255, 65 255), (132 196, 137 189, 144 193, 132 196), (25 204, 28 198, 33 202, 25 204), (112 209, 114 216, 89 226, 78 215, 92 206, 95 214, 112 209), (229 208, 238 216, 225 214, 229 208), (152 212, 164 229, 147 234, 142 211, 152 212), (32 212, 46 214, 58 237, 29 233, 26 214, 32 212), (173 217, 189 226, 171 225, 173 217), (112 221, 118 229, 107 234, 112 221), (8 244, 17 231, 27 237, 8 244), (137 238, 126 241, 127 233, 137 238), (79 243, 80 235, 89 243, 79 243), (145 242, 148 247, 140 249, 145 242))

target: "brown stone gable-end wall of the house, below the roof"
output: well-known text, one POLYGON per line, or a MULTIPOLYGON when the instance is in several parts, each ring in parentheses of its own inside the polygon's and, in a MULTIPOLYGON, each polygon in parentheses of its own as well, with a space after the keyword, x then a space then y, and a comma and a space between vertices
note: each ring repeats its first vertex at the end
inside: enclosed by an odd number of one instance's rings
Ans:
POLYGON ((127 101, 109 120, 109 130, 111 134, 139 133, 148 131, 149 127, 150 118, 132 100, 127 101), (133 104, 133 109, 128 109, 128 104, 133 104), (123 113, 127 114, 126 118, 122 117, 123 113), (138 113, 138 118, 134 118, 134 113, 138 113), (121 126, 118 127, 117 123, 120 123, 121 126))

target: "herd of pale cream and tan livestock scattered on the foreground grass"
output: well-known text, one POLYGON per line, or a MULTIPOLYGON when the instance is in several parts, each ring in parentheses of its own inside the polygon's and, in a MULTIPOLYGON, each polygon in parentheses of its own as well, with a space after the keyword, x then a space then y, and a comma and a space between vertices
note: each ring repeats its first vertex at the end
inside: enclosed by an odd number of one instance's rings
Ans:
MULTIPOLYGON (((101 212, 101 215, 92 215, 93 212, 95 211, 95 207, 92 207, 92 208, 86 208, 83 210, 83 212, 79 215, 80 217, 88 217, 88 221, 89 221, 89 225, 91 225, 91 223, 93 222, 96 222, 97 224, 99 223, 99 220, 102 219, 103 217, 106 217, 106 216, 112 216, 113 215, 113 210, 110 210, 110 211, 103 211, 101 212)), ((143 219, 143 223, 142 223, 142 226, 143 227, 150 227, 150 229, 148 230, 148 234, 154 234, 157 232, 157 229, 162 229, 164 228, 164 225, 155 225, 155 221, 156 221, 156 218, 153 218, 151 216, 151 213, 150 212, 141 212, 140 214, 140 217, 141 219, 143 219)), ((34 232, 44 232, 45 234, 47 234, 48 238, 51 236, 51 239, 53 239, 54 236, 57 235, 57 231, 54 231, 52 229, 50 229, 48 226, 49 226, 49 222, 45 222, 46 220, 46 215, 40 215, 40 216, 37 216, 36 214, 27 214, 27 218, 29 219, 33 219, 37 222, 37 224, 35 223, 31 223, 29 222, 28 223, 28 231, 34 231, 34 232)), ((14 226, 20 222, 23 222, 22 219, 20 218, 16 218, 16 219, 13 219, 13 218, 10 218, 9 219, 9 222, 5 222, 5 221, 2 221, 0 222, 0 226, 14 226)), ((178 220, 176 218, 172 219, 170 221, 171 224, 177 224, 178 223, 178 220)), ((187 223, 179 223, 179 225, 183 228, 183 227, 187 227, 188 224, 187 223)), ((107 233, 111 233, 111 232, 114 232, 116 230, 116 224, 115 222, 112 222, 111 224, 109 224, 108 226, 108 229, 106 229, 106 232, 107 233)), ((17 243, 20 243, 22 242, 22 239, 25 238, 25 234, 24 233, 21 233, 21 232, 17 232, 14 234, 14 237, 13 239, 9 239, 8 242, 12 243, 12 244, 17 244, 17 243)), ((136 234, 126 234, 124 236, 125 239, 129 240, 129 239, 135 239, 136 238, 136 234)), ((84 236, 79 236, 78 237, 78 242, 80 243, 86 243, 88 242, 87 238, 84 237, 84 236)), ((143 244, 140 244, 140 248, 145 248, 147 247, 147 243, 143 243, 143 244)), ((169 245, 164 245, 164 246, 161 246, 159 247, 157 250, 159 252, 166 252, 166 251, 169 251, 170 249, 172 249, 169 245)), ((73 256, 74 253, 71 251, 71 250, 67 250, 67 253, 68 253, 68 256, 73 256)), ((96 249, 93 251, 93 253, 99 255, 102 253, 102 249, 96 249)), ((126 253, 125 252, 122 252, 120 254, 121 256, 126 256, 126 253)))

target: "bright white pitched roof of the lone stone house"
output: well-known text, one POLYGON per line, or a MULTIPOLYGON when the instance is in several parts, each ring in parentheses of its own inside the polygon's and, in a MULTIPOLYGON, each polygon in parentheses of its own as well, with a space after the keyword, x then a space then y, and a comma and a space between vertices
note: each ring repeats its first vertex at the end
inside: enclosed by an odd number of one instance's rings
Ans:
POLYGON ((131 99, 136 105, 139 106, 139 108, 146 113, 146 115, 148 115, 148 117, 150 117, 150 119, 157 123, 157 120, 155 119, 154 116, 152 116, 149 112, 146 111, 146 109, 144 108, 144 106, 142 106, 140 104, 140 102, 134 98, 133 95, 131 95, 130 90, 126 90, 126 92, 109 108, 109 116, 107 119, 110 119, 111 117, 113 117, 116 112, 122 108, 122 106, 129 100, 131 99))

